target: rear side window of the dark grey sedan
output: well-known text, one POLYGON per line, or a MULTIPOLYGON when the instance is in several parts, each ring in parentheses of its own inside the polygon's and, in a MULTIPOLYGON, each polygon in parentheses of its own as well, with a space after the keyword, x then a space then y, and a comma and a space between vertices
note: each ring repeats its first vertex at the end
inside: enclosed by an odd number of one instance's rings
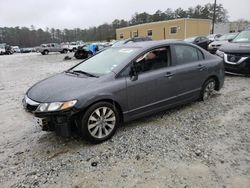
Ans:
POLYGON ((174 48, 177 65, 199 61, 200 58, 204 59, 203 54, 192 46, 176 45, 174 48))

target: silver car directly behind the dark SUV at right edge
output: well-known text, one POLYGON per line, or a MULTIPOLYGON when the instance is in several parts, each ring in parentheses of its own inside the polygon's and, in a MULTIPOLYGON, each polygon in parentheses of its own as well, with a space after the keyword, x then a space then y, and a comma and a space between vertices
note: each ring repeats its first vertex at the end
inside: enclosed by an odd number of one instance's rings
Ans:
POLYGON ((222 44, 228 43, 228 41, 234 39, 237 34, 238 33, 227 33, 222 35, 220 38, 208 45, 208 51, 212 54, 215 54, 222 44))

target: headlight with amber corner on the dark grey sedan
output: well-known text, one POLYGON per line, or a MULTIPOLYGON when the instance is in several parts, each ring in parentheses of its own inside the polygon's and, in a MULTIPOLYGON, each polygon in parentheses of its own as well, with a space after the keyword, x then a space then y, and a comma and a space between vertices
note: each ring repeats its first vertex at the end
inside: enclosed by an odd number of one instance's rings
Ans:
POLYGON ((41 103, 37 110, 38 112, 51 112, 58 110, 66 110, 73 107, 77 100, 66 101, 66 102, 52 102, 52 103, 41 103))

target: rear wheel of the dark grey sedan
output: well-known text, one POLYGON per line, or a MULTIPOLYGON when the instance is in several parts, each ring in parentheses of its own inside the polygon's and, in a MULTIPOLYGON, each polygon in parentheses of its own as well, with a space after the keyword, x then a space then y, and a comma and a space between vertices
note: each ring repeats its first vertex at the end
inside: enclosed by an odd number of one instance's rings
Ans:
POLYGON ((216 81, 214 78, 208 79, 202 87, 200 99, 202 101, 209 100, 215 92, 216 81))

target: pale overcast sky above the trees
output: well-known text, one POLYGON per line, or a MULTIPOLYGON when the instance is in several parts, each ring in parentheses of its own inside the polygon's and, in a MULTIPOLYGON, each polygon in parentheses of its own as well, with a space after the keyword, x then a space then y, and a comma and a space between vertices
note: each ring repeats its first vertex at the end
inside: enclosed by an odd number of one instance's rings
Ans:
MULTIPOLYGON (((187 9, 214 0, 0 0, 0 27, 88 28, 114 19, 129 20, 135 12, 154 13, 167 8, 187 9)), ((229 20, 250 20, 250 0, 217 0, 229 20)))

